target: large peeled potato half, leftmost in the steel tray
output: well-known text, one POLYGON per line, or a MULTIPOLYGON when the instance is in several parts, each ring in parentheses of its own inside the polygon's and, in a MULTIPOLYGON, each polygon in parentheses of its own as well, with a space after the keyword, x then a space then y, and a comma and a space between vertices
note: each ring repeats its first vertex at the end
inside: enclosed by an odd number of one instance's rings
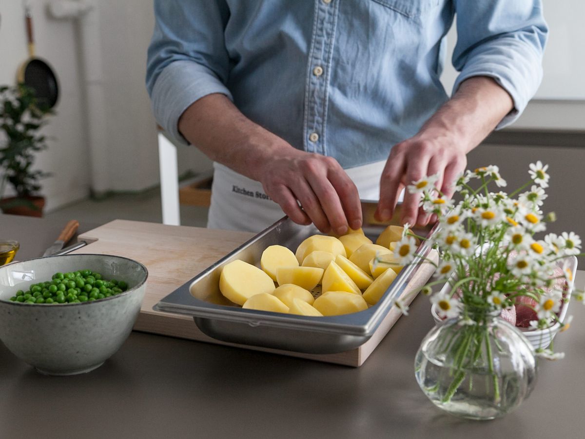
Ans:
POLYGON ((233 303, 243 305, 255 294, 272 293, 274 282, 258 267, 236 259, 223 267, 219 291, 233 303))

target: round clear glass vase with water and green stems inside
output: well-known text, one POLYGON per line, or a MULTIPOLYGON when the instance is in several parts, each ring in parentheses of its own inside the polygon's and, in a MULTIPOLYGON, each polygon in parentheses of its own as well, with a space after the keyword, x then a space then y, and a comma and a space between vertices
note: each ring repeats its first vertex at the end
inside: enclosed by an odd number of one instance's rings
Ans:
POLYGON ((422 340, 415 376, 439 408, 494 419, 518 407, 536 382, 534 348, 498 313, 453 318, 422 340))

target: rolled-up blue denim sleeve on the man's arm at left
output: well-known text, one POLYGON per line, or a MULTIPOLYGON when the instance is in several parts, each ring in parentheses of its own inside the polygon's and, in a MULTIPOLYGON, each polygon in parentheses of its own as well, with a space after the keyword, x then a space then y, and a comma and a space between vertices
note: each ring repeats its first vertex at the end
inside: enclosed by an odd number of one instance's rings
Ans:
POLYGON ((159 125, 187 143, 177 126, 185 109, 211 93, 232 98, 225 86, 228 7, 222 0, 154 0, 154 16, 146 88, 159 125))

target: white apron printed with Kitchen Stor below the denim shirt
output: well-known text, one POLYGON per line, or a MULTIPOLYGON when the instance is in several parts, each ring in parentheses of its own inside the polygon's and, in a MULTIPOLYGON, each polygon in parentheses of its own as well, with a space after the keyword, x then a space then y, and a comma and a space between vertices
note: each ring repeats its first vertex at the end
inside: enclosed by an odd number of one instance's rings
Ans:
MULTIPOLYGON (((380 175, 386 160, 346 169, 361 200, 380 199, 380 175)), ((207 227, 223 230, 260 232, 284 217, 280 205, 272 201, 259 181, 214 163, 211 205, 207 227)))

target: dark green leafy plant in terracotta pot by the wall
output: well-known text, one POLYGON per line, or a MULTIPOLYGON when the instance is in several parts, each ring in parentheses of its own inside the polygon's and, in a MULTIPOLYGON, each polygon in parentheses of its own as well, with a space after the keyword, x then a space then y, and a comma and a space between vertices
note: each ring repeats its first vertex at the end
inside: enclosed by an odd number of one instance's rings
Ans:
POLYGON ((48 176, 32 169, 35 153, 47 148, 39 133, 49 109, 37 105, 35 92, 23 84, 0 87, 0 208, 4 213, 40 217, 44 197, 39 179, 48 176), (5 197, 6 186, 13 196, 5 197))

